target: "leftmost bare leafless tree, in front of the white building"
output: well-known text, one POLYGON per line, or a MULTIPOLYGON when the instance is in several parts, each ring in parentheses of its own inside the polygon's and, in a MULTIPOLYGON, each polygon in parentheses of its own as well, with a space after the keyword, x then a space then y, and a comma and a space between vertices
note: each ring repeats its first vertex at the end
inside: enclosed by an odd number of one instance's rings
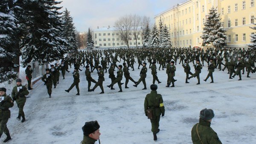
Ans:
POLYGON ((126 46, 129 48, 129 40, 132 36, 132 15, 125 15, 120 17, 119 20, 116 20, 115 28, 119 31, 119 37, 121 40, 124 41, 126 46))

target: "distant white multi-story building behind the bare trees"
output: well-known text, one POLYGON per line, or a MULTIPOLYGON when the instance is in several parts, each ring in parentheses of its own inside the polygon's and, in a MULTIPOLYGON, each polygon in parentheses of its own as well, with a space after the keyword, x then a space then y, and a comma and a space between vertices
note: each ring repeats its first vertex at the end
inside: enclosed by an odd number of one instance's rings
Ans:
MULTIPOLYGON (((125 42, 121 39, 119 30, 115 27, 102 27, 92 31, 94 46, 96 48, 120 48, 127 47, 125 42)), ((134 37, 134 31, 129 32, 131 38, 129 40, 129 47, 136 47, 136 40, 134 37)), ((137 29, 137 46, 142 47, 143 34, 142 29, 137 29)))

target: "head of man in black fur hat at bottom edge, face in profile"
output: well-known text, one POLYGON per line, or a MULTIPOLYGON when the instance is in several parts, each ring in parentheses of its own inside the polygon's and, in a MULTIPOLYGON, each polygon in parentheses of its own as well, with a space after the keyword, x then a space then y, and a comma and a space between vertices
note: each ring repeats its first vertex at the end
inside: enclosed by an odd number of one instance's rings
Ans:
POLYGON ((98 121, 85 122, 84 126, 82 127, 84 138, 81 141, 81 144, 94 144, 97 140, 99 140, 99 135, 101 135, 99 132, 99 127, 98 121))

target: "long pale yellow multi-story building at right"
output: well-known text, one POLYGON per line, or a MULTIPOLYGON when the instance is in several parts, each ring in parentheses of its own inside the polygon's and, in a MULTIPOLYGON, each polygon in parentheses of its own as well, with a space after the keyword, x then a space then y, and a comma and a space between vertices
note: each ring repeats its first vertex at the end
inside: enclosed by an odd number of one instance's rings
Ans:
MULTIPOLYGON (((209 9, 215 7, 221 14, 221 21, 227 29, 227 47, 247 48, 250 43, 250 35, 254 30, 250 29, 256 23, 256 0, 188 0, 185 3, 174 6, 156 17, 169 27, 172 45, 174 47, 202 47, 202 31, 209 9)), ((205 47, 209 47, 205 46, 205 47)))

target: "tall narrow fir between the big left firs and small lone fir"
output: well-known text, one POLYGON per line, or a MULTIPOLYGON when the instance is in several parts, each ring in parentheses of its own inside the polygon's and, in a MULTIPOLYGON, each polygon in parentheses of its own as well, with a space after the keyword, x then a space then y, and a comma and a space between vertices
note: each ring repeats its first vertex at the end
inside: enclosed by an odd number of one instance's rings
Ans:
POLYGON ((73 17, 70 16, 70 12, 65 9, 62 14, 62 21, 63 21, 63 36, 67 40, 67 49, 77 49, 78 48, 78 41, 76 37, 76 27, 73 23, 73 17))

